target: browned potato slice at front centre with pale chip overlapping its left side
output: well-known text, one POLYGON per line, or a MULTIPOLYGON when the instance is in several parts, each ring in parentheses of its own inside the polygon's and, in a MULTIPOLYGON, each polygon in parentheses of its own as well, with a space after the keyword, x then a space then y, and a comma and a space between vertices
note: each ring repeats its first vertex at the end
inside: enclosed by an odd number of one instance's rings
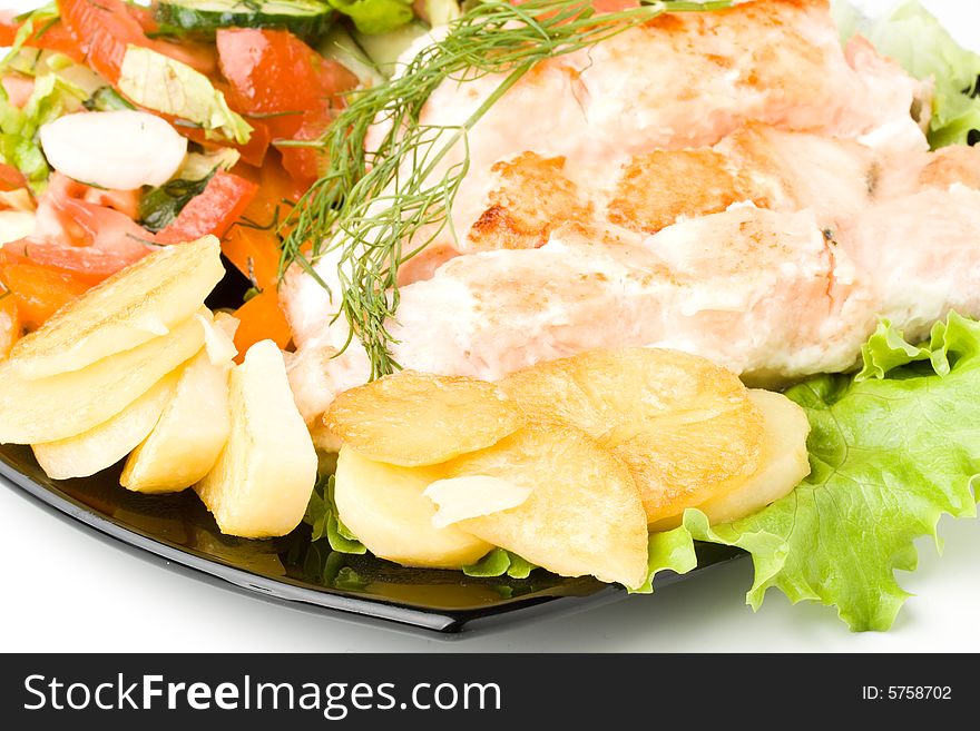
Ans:
POLYGON ((487 475, 532 490, 517 507, 457 523, 463 531, 564 576, 639 586, 647 518, 626 466, 568 424, 532 424, 444 465, 450 477, 487 475))

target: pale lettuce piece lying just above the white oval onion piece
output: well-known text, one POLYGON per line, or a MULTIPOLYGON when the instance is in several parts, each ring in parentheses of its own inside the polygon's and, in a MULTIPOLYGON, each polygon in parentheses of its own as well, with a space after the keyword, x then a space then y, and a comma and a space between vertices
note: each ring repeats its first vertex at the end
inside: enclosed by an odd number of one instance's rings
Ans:
POLYGON ((252 137, 252 127, 206 76, 148 48, 126 49, 118 86, 140 107, 198 126, 209 139, 245 145, 252 137))

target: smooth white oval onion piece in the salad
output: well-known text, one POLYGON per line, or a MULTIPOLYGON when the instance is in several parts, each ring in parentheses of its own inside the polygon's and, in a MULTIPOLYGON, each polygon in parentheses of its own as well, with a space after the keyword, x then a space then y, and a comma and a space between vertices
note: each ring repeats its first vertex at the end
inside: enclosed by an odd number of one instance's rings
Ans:
POLYGON ((111 190, 161 186, 187 155, 187 140, 145 111, 67 115, 41 127, 51 167, 80 182, 111 190))

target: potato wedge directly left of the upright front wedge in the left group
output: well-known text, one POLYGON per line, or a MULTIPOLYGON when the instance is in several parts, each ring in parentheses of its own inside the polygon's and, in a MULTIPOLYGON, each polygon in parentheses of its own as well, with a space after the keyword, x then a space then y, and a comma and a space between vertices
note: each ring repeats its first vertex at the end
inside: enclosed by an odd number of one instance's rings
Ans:
POLYGON ((232 431, 228 372, 202 350, 186 366, 159 421, 134 450, 119 484, 139 493, 190 487, 210 472, 232 431))

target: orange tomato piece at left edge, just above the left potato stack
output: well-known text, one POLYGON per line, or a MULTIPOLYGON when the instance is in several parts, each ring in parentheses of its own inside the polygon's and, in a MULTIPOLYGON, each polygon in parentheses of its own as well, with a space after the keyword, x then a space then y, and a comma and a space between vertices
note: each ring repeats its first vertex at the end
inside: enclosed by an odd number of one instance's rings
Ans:
POLYGON ((91 287, 79 277, 41 266, 33 261, 14 260, 3 265, 0 258, 0 279, 11 293, 23 327, 37 329, 61 307, 74 302, 91 287))

